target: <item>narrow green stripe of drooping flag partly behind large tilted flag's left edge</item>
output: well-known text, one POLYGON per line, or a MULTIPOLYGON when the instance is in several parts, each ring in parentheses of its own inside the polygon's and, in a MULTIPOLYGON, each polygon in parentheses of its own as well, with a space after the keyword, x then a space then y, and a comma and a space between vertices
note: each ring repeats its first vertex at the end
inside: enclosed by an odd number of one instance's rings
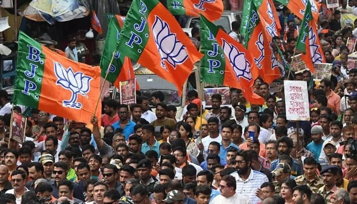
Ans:
POLYGON ((112 59, 113 52, 114 59, 109 68, 109 73, 107 76, 107 81, 110 83, 114 83, 118 78, 118 75, 121 71, 121 68, 124 63, 125 56, 120 54, 120 52, 116 51, 116 46, 118 39, 120 37, 120 27, 117 19, 111 18, 108 25, 108 32, 106 37, 106 43, 103 49, 103 55, 100 59, 100 69, 101 69, 101 77, 106 77, 106 71, 108 69, 109 63, 112 59))

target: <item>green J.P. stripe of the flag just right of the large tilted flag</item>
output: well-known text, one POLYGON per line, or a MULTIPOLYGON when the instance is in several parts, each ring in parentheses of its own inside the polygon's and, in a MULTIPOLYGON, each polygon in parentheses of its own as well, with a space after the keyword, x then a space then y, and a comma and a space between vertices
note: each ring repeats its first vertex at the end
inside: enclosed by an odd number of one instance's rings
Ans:
POLYGON ((216 35, 218 28, 200 15, 201 53, 200 80, 202 82, 223 85, 225 56, 219 46, 216 35))

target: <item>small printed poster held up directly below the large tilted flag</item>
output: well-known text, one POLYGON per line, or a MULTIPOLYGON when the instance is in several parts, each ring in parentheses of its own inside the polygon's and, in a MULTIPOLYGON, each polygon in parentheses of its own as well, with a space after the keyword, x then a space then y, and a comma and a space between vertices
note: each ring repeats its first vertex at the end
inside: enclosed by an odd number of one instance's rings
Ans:
POLYGON ((136 79, 120 82, 120 104, 131 105, 136 103, 136 79))

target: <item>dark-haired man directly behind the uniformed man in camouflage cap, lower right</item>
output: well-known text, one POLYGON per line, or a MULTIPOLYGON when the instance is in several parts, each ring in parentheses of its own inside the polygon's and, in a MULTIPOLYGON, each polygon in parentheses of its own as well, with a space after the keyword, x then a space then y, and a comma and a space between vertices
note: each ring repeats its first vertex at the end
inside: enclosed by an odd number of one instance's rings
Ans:
MULTIPOLYGON (((289 137, 282 137, 277 141, 277 147, 278 147, 278 155, 290 155, 290 152, 294 146, 293 140, 289 137)), ((292 164, 292 171, 291 174, 293 176, 299 176, 302 175, 302 164, 301 162, 297 161, 296 159, 293 159, 293 164, 292 164)), ((270 170, 274 170, 279 162, 279 159, 274 160, 270 164, 270 170)))

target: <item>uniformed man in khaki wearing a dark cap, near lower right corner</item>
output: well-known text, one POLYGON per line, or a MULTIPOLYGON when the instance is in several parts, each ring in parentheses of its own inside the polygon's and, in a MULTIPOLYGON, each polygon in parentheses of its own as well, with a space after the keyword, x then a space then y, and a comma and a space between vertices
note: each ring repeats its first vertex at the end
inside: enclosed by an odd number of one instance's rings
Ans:
POLYGON ((326 204, 330 204, 332 194, 338 189, 336 187, 337 166, 326 166, 322 169, 321 175, 324 186, 319 188, 318 194, 322 195, 326 204))

